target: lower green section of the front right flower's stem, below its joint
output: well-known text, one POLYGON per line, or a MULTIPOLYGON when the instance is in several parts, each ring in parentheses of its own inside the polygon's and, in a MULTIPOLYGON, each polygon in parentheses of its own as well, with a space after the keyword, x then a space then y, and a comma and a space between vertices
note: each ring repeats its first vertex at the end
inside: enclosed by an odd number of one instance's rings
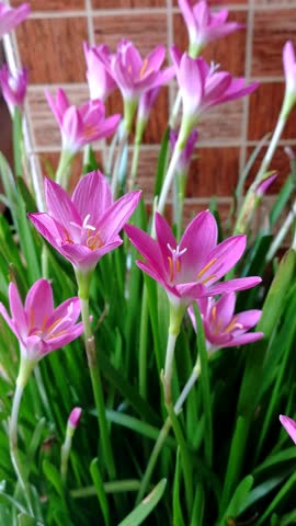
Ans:
POLYGON ((182 465, 183 465, 184 483, 185 483, 185 499, 186 499, 187 511, 190 515, 193 506, 192 460, 190 457, 189 448, 185 442, 185 437, 183 435, 182 427, 174 412, 174 408, 172 403, 166 404, 166 407, 167 407, 168 415, 171 421, 175 439, 180 446, 180 453, 181 453, 182 465))

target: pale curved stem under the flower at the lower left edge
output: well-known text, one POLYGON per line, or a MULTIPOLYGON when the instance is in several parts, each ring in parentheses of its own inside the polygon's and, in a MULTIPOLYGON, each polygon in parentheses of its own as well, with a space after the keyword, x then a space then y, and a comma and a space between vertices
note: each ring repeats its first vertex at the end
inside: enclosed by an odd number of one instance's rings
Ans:
POLYGON ((18 477, 19 483, 24 492, 27 508, 31 515, 34 515, 34 513, 33 513, 33 507, 31 503, 30 487, 27 483, 26 471, 21 461, 19 448, 18 448, 18 420, 19 420, 19 411, 20 411, 20 404, 21 404, 23 391, 35 365, 36 365, 36 361, 25 359, 22 357, 22 354, 21 354, 20 371, 16 378, 15 391, 14 391, 14 397, 12 402, 11 419, 9 422, 9 445, 10 445, 11 461, 12 461, 15 474, 18 477))

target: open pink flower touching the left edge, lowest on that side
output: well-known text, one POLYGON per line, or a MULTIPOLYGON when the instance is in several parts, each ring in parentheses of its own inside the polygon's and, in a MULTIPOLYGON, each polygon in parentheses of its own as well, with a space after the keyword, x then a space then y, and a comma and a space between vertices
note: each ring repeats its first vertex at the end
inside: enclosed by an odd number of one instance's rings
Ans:
POLYGON ((22 357, 38 361, 46 354, 67 345, 83 332, 77 323, 79 298, 70 298, 56 309, 47 279, 38 279, 29 290, 23 305, 14 283, 9 285, 11 318, 3 304, 0 313, 20 342, 22 357))

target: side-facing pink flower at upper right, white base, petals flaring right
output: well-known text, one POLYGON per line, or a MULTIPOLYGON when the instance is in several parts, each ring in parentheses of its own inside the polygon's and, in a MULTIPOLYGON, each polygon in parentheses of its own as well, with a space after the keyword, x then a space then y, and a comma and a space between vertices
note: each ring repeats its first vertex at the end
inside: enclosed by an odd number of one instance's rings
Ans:
POLYGON ((171 56, 182 96, 181 136, 185 139, 209 107, 248 95, 259 85, 258 82, 247 85, 243 77, 235 79, 227 71, 218 71, 218 66, 208 66, 202 57, 193 59, 186 53, 182 55, 175 46, 171 48, 171 56))

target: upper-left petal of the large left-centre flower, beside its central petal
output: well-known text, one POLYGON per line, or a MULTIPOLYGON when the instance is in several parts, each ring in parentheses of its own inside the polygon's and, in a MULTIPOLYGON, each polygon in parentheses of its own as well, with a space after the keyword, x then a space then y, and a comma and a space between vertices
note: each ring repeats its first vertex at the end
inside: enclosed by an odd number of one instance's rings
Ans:
POLYGON ((66 229, 70 222, 81 225, 82 219, 67 192, 50 179, 45 180, 46 203, 49 215, 66 229))

